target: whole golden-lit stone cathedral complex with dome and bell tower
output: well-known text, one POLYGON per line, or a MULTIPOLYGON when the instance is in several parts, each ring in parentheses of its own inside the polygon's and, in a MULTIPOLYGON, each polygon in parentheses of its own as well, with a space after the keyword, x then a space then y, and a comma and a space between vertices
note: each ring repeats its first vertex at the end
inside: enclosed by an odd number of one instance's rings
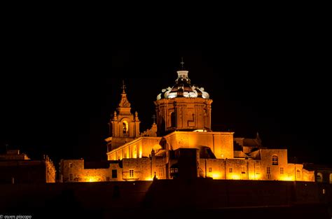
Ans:
POLYGON ((314 181, 314 171, 288 163, 286 149, 263 147, 255 139, 213 132, 212 99, 203 87, 191 85, 188 71, 177 71, 172 87, 155 100, 157 123, 139 132, 138 113, 131 112, 125 87, 109 122, 104 169, 85 168, 83 160, 62 160, 60 172, 69 181, 145 181, 202 177, 233 180, 314 181), (72 166, 70 166, 72 165, 72 166), (113 178, 112 173, 117 177, 113 178), (93 176, 92 176, 93 175, 93 176))

